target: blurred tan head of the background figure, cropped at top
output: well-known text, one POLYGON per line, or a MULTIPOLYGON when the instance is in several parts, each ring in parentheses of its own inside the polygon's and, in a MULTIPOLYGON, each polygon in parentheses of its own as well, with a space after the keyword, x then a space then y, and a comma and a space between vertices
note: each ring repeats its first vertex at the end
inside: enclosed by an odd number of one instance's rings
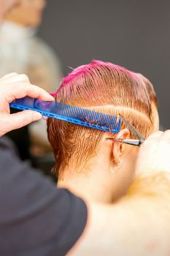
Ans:
POLYGON ((6 16, 6 20, 22 26, 39 26, 46 0, 20 0, 6 16))

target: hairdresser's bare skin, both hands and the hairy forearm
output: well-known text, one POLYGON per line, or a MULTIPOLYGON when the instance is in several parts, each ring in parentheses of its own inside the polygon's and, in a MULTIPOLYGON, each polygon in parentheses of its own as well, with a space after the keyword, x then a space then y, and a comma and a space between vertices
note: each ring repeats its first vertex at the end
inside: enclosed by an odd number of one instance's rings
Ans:
MULTIPOLYGON (((7 3, 7 0, 5 2, 7 3)), ((9 102, 12 99, 29 95, 53 100, 47 92, 31 85, 26 76, 21 79, 20 75, 12 74, 2 78, 0 82, 0 135, 11 130, 12 122, 7 124, 7 118, 12 118, 15 128, 25 124, 24 118, 28 118, 30 122, 34 121, 32 112, 23 112, 23 118, 19 120, 18 116, 12 117, 9 114, 9 102), (5 80, 7 86, 4 86, 5 80)), ((139 176, 134 179, 132 189, 130 187, 130 195, 112 206, 87 202, 88 225, 69 255, 169 256, 169 152, 170 130, 164 133, 155 132, 147 138, 136 161, 135 172, 139 172, 139 176), (146 179, 143 182, 144 176, 146 179), (153 179, 153 176, 156 178, 153 179), (140 180, 142 186, 133 190, 136 181, 139 184, 140 180)))

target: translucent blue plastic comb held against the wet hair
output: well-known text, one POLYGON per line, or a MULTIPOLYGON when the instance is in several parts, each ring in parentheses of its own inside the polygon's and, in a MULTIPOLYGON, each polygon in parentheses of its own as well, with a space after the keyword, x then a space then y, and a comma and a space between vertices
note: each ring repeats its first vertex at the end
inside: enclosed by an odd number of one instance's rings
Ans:
POLYGON ((121 119, 104 113, 98 113, 85 108, 66 105, 60 102, 44 102, 39 99, 24 97, 15 99, 10 107, 19 110, 34 110, 50 118, 79 124, 83 127, 99 129, 105 132, 117 133, 120 131, 121 119))

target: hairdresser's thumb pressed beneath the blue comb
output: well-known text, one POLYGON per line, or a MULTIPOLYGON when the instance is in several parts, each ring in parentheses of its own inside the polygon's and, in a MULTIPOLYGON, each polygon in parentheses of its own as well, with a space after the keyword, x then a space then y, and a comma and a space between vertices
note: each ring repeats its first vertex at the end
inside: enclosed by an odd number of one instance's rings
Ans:
POLYGON ((37 121, 42 118, 42 115, 36 111, 24 110, 19 113, 15 113, 7 116, 6 121, 4 121, 4 127, 7 132, 18 129, 31 124, 33 121, 37 121))

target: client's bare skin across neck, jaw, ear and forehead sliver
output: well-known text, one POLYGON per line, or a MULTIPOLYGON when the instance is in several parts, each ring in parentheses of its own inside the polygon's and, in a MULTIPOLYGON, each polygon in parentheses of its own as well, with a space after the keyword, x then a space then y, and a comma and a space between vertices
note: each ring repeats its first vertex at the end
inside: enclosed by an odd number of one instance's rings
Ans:
MULTIPOLYGON (((154 108, 153 111, 152 132, 155 132, 158 131, 159 119, 157 109, 154 108)), ((98 145, 96 156, 90 159, 88 168, 82 169, 81 172, 74 170, 76 159, 71 159, 63 172, 63 178, 58 181, 58 186, 70 189, 85 200, 96 203, 113 203, 125 195, 134 177, 139 148, 106 140, 109 137, 110 134, 106 132, 98 145), (123 163, 122 166, 114 170, 114 165, 120 161, 123 163)), ((129 138, 129 130, 121 130, 116 138, 129 138)))

